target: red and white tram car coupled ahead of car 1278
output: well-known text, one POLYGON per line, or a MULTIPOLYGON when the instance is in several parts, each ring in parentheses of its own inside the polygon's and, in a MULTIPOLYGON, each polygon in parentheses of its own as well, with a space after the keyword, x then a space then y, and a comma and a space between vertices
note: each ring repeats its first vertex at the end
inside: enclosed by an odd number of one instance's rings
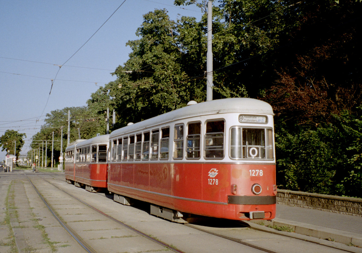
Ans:
POLYGON ((109 135, 88 140, 76 140, 66 148, 65 177, 67 183, 85 186, 87 191, 97 192, 107 188, 107 150, 109 135))

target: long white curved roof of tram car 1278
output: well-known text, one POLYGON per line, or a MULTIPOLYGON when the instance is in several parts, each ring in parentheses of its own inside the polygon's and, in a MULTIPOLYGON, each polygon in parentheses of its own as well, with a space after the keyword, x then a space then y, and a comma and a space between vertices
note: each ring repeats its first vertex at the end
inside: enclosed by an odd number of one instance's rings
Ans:
POLYGON ((111 132, 110 137, 127 132, 142 130, 144 128, 170 122, 175 119, 189 118, 201 115, 211 115, 219 113, 250 113, 274 115, 273 108, 267 102, 245 97, 217 99, 188 105, 156 117, 145 119, 144 121, 125 126, 111 132))

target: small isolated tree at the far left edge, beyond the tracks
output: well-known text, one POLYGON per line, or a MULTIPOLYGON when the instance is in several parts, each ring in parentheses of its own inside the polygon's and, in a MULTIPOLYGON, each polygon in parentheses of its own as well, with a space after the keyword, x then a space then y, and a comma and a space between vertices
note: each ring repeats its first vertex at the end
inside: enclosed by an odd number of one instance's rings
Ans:
POLYGON ((5 150, 7 154, 15 154, 15 156, 18 157, 20 150, 24 145, 24 137, 26 138, 26 134, 21 134, 14 130, 6 130, 4 135, 0 137, 0 146, 2 146, 1 151, 5 150))

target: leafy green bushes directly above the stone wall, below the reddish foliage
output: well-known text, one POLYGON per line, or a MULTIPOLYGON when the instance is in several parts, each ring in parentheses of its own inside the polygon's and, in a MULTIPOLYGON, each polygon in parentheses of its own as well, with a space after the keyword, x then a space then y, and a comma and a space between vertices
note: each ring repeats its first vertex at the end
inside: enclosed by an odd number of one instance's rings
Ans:
POLYGON ((361 127, 361 121, 347 111, 314 129, 277 127, 279 187, 362 197, 361 127))

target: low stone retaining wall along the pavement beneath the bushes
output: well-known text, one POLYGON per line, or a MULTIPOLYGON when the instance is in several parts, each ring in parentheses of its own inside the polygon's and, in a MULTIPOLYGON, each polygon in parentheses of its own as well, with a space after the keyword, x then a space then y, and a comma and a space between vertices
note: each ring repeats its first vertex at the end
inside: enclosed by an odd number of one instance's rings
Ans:
POLYGON ((362 199, 279 190, 277 203, 362 216, 362 199))

